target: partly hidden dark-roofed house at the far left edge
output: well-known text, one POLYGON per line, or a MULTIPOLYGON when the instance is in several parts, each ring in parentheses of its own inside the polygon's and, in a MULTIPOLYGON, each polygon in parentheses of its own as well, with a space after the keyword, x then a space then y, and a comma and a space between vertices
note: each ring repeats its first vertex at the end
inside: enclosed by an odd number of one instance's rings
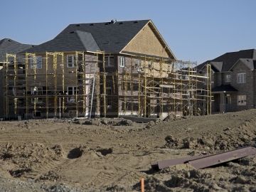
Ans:
MULTIPOLYGON (((32 48, 32 45, 18 43, 10 38, 4 38, 0 41, 0 88, 1 94, 0 98, 4 98, 3 90, 3 65, 6 63, 6 53, 16 54, 28 48, 32 48)), ((11 62, 11 61, 10 61, 11 62)), ((0 99, 0 117, 4 116, 4 102, 3 99, 0 99)))

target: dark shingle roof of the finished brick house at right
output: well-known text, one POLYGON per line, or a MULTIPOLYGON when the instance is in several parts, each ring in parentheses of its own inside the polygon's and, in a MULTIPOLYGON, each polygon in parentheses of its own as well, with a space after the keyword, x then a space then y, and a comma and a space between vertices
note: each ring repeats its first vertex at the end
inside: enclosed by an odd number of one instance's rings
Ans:
POLYGON ((255 49, 247 49, 247 50, 239 50, 235 52, 225 53, 220 55, 218 58, 213 60, 207 60, 206 62, 198 65, 198 69, 202 70, 203 67, 210 63, 212 65, 216 65, 218 63, 218 72, 225 72, 230 70, 230 68, 237 63, 240 58, 248 58, 248 59, 256 59, 256 50, 255 49), (222 63, 222 64, 220 64, 222 63))

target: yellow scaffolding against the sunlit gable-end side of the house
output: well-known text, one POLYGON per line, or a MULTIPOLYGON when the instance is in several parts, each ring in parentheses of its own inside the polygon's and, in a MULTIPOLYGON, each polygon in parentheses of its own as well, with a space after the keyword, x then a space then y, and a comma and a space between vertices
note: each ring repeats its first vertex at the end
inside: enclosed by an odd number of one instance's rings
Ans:
POLYGON ((134 56, 126 60, 118 78, 121 116, 210 114, 210 66, 201 75, 195 62, 134 56))

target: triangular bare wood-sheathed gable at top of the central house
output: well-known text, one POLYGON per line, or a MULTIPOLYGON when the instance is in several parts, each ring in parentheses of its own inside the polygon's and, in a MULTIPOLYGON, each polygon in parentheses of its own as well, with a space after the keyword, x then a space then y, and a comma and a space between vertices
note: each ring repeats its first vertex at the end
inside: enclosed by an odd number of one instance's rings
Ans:
POLYGON ((169 58, 164 46, 160 43, 149 24, 129 42, 123 51, 169 58))

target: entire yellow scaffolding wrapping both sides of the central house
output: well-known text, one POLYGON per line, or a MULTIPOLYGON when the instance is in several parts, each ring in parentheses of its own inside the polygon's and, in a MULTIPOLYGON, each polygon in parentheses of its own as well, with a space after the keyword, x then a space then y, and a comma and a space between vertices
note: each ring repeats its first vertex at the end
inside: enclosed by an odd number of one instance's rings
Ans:
POLYGON ((6 54, 4 63, 6 119, 211 112, 210 65, 201 75, 191 61, 102 51, 6 54))

